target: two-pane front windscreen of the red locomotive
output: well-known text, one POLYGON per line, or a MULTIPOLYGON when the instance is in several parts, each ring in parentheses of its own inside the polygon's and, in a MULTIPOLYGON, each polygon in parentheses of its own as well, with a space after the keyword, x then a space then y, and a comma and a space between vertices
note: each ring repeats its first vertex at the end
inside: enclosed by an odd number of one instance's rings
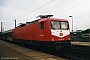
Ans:
POLYGON ((68 29, 68 22, 62 22, 62 21, 51 21, 51 28, 58 30, 58 29, 68 29))

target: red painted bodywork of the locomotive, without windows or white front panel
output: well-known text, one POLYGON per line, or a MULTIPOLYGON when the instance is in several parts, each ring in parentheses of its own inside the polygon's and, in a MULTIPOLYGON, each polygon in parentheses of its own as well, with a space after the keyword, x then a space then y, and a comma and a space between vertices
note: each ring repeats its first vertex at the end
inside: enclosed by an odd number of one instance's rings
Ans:
MULTIPOLYGON (((57 18, 43 18, 40 19, 37 23, 27 25, 20 28, 15 28, 13 33, 14 39, 21 39, 21 40, 36 40, 36 41, 61 41, 61 39, 56 36, 51 35, 51 20, 58 20, 58 21, 67 21, 65 19, 57 19, 57 18), (40 22, 44 21, 44 30, 40 30, 40 22)), ((68 22, 68 21, 67 21, 68 22)), ((63 37, 63 40, 68 40, 70 38, 70 34, 63 37)))

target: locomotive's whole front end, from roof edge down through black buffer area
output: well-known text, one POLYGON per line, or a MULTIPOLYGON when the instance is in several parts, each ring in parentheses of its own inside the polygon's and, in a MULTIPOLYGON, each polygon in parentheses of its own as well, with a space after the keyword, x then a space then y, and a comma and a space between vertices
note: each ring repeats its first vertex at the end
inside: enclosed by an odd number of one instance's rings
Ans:
POLYGON ((67 20, 51 20, 51 40, 56 50, 70 49, 70 29, 67 20))

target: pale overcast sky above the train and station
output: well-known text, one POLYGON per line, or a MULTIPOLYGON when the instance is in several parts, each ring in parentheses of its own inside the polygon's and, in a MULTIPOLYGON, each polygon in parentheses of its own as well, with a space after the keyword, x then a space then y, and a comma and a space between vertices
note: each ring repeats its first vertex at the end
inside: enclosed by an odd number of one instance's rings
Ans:
POLYGON ((54 18, 67 19, 70 30, 90 28, 90 0, 0 0, 0 30, 14 28, 19 23, 36 20, 38 15, 52 14, 54 18), (69 17, 72 16, 72 17, 69 17))

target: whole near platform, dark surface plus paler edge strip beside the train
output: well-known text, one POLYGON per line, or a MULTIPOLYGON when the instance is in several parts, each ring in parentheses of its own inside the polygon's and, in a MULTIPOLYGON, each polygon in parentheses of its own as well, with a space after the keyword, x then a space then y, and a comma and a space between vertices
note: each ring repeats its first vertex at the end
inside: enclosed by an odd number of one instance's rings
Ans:
POLYGON ((58 56, 42 53, 16 44, 0 40, 0 58, 14 60, 67 60, 58 56))

